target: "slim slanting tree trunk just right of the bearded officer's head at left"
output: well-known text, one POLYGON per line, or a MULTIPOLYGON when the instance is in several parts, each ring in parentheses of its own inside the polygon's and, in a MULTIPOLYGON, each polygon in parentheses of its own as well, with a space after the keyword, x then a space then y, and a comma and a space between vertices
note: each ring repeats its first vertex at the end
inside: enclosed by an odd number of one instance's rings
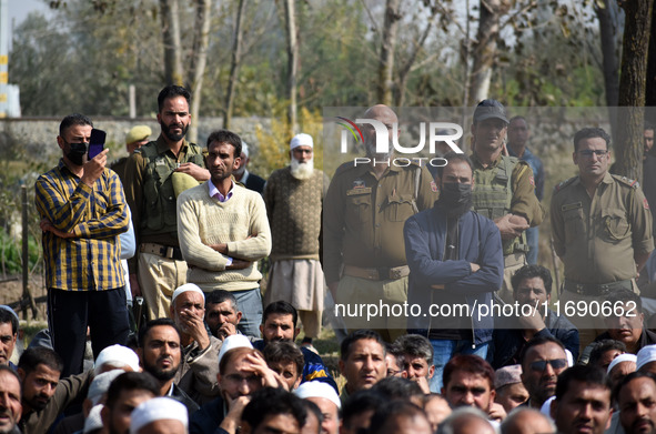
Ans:
POLYGON ((203 75, 208 63, 208 46, 210 42, 210 19, 212 16, 211 0, 196 0, 195 21, 193 34, 193 49, 191 54, 190 83, 191 93, 191 127, 189 141, 198 140, 198 120, 200 119, 201 92, 203 90, 203 75), (196 121, 194 121, 196 120, 196 121))

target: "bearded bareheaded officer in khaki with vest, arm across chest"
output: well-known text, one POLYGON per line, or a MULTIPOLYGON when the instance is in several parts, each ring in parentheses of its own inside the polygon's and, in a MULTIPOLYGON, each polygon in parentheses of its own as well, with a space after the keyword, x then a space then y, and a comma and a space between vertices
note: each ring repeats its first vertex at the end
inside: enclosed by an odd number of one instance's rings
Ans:
POLYGON ((125 199, 139 254, 129 261, 133 295, 143 295, 150 320, 169 316, 173 291, 186 283, 186 263, 178 242, 174 185, 210 179, 202 150, 184 140, 191 114, 191 95, 168 85, 158 95, 157 141, 137 149, 125 166, 125 199), (195 180, 195 181, 194 181, 195 180))

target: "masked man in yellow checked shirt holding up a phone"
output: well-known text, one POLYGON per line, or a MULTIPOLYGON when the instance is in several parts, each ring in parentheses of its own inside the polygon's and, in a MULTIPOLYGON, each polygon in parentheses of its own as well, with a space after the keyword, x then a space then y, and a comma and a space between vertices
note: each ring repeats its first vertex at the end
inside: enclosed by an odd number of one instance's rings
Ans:
POLYGON ((63 157, 36 183, 48 325, 64 362, 62 377, 82 372, 88 326, 94 357, 107 346, 124 344, 129 333, 119 259, 119 234, 129 223, 125 198, 119 176, 105 168, 103 133, 93 133, 94 147, 89 143, 92 130, 88 117, 65 117, 57 137, 63 157), (95 148, 91 155, 90 148, 95 148))

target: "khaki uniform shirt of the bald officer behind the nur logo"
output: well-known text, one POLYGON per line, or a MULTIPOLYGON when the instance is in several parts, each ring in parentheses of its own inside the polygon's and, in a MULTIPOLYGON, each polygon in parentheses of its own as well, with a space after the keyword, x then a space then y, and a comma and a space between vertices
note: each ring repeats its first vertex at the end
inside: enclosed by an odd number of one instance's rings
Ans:
POLYGON ((406 265, 403 225, 417 210, 433 206, 436 190, 425 166, 391 165, 377 180, 369 164, 342 164, 329 186, 323 210, 326 281, 340 280, 342 263, 360 268, 406 265))

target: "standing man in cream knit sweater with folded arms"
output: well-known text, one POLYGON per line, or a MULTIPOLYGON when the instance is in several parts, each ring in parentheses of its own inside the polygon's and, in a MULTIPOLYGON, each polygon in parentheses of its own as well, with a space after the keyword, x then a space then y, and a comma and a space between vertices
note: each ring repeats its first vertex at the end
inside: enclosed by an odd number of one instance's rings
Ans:
POLYGON ((226 290, 243 312, 242 333, 259 337, 262 297, 258 261, 271 252, 271 230, 262 196, 238 185, 242 141, 228 130, 208 138, 210 181, 178 198, 178 236, 189 265, 186 280, 203 292, 226 290))

